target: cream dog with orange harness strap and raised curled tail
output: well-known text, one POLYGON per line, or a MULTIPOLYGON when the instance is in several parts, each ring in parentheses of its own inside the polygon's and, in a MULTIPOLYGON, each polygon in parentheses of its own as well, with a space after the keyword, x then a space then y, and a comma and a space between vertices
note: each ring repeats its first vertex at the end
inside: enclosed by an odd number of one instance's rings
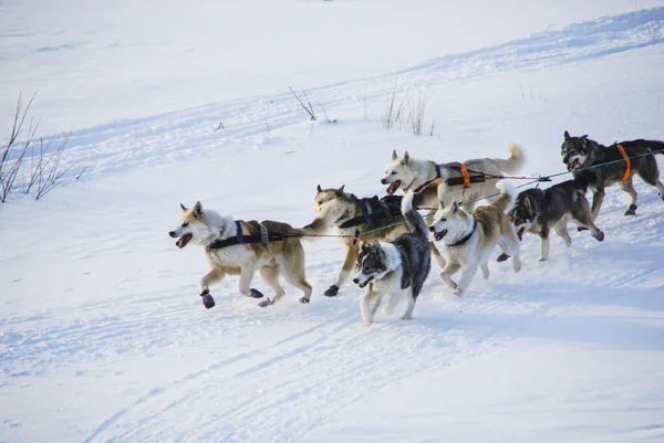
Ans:
MULTIPOLYGON (((507 150, 509 151, 508 159, 480 158, 467 160, 465 165, 470 178, 478 177, 483 179, 480 182, 473 182, 471 180, 468 188, 465 188, 463 183, 448 186, 445 182, 447 179, 463 178, 459 162, 436 164, 432 160, 418 160, 411 157, 407 151, 400 158, 395 150, 392 152, 392 159, 387 164, 385 177, 381 180, 381 183, 390 184, 387 188, 390 194, 398 189, 404 191, 412 189, 417 192, 422 186, 442 178, 443 180, 438 186, 438 198, 443 199, 445 205, 449 204, 453 199, 473 201, 497 193, 496 182, 500 179, 500 176, 516 173, 521 169, 526 161, 521 148, 513 143, 508 143, 507 150)), ((475 203, 471 202, 465 209, 471 212, 474 207, 475 203)))

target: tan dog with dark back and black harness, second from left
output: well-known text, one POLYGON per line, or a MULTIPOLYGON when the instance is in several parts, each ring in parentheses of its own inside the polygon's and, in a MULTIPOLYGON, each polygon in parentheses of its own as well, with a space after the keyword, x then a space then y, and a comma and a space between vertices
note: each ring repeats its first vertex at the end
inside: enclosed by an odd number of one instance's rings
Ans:
MULTIPOLYGON (((437 183, 434 182, 415 196, 415 204, 425 207, 437 204, 436 186, 437 183)), ((308 234, 321 234, 333 226, 334 234, 346 235, 340 238, 346 249, 345 260, 334 284, 324 292, 328 297, 339 294, 339 288, 347 279, 357 261, 360 246, 353 239, 355 231, 366 232, 377 229, 362 235, 362 240, 365 242, 394 240, 408 231, 408 225, 404 223, 404 217, 401 212, 402 197, 386 196, 381 200, 375 197, 359 199, 352 193, 344 192, 343 189, 343 186, 339 189, 322 189, 319 184, 313 203, 313 209, 318 215, 311 223, 302 228, 302 231, 308 234), (390 226, 384 228, 386 225, 390 226)), ((430 249, 438 264, 443 267, 445 262, 433 243, 430 243, 430 249)))

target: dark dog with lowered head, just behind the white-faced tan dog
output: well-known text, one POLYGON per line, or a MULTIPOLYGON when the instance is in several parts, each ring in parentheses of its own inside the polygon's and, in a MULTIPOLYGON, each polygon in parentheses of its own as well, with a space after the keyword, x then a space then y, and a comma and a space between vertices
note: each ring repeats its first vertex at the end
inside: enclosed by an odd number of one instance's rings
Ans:
POLYGON ((572 239, 567 231, 570 220, 588 226, 596 241, 604 240, 604 233, 592 222, 585 196, 579 191, 573 180, 563 181, 547 190, 528 189, 519 193, 507 217, 519 240, 523 239, 523 232, 539 234, 540 262, 549 259, 551 229, 564 240, 566 245, 572 245, 572 239))

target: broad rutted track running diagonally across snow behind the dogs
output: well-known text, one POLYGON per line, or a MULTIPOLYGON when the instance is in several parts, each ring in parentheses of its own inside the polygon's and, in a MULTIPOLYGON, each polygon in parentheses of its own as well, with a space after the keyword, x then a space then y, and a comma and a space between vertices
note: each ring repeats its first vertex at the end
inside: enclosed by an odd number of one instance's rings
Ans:
MULTIPOLYGON (((653 8, 446 55, 394 74, 309 89, 308 95, 319 118, 328 110, 330 117, 343 119, 343 110, 357 109, 364 96, 387 99, 396 76, 400 89, 409 89, 516 70, 535 71, 662 43, 664 8, 653 8)), ((267 135, 266 122, 276 130, 305 120, 294 97, 284 92, 87 128, 72 134, 68 146, 73 158, 84 154, 86 164, 102 172, 146 160, 163 161, 165 150, 170 152, 167 160, 175 161, 219 146, 234 149, 235 139, 267 135), (225 129, 214 131, 219 122, 224 122, 225 129)))

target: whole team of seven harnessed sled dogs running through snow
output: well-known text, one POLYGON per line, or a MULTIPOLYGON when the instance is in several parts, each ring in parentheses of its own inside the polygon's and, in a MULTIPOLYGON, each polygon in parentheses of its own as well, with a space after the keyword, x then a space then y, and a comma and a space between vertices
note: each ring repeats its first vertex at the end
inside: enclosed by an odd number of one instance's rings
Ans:
POLYGON ((519 272, 519 244, 526 232, 540 236, 540 261, 549 257, 551 230, 567 246, 571 245, 569 221, 575 222, 579 231, 590 230, 601 242, 604 233, 595 219, 606 187, 618 183, 630 194, 625 215, 634 215, 637 209, 634 175, 655 187, 664 200, 653 156, 664 154, 662 141, 639 139, 606 147, 588 136, 572 137, 566 131, 561 157, 573 180, 544 190, 527 189, 515 199, 499 180, 519 172, 525 156, 517 145, 507 147, 507 159, 480 158, 461 164, 421 160, 407 151, 398 157, 394 151, 381 180, 388 184, 387 196, 357 198, 345 192, 343 186, 318 186, 313 204, 317 217, 301 229, 270 220, 234 220, 197 202, 193 208, 180 204, 181 220, 168 234, 178 239, 176 245, 180 249, 189 243, 205 247, 210 270, 200 279, 200 295, 206 307, 215 305, 210 285, 227 274, 240 276, 240 294, 262 298, 263 294, 251 287, 256 272, 274 293, 259 303, 266 307, 286 293, 280 275, 303 292, 300 302, 309 303, 312 288, 305 278, 301 238, 332 229, 345 246, 345 259, 324 295, 338 295, 354 270, 353 283, 364 288, 362 317, 371 325, 384 296, 385 314, 391 315, 404 299, 406 310, 401 318, 412 318, 432 255, 442 267, 443 281, 460 296, 478 268, 485 279, 489 277, 488 263, 496 245, 502 251, 498 262, 511 259, 515 272, 519 272), (589 188, 593 191, 592 205, 584 196, 589 188), (405 196, 395 196, 400 189, 405 196), (489 204, 475 208, 475 202, 485 198, 489 204), (423 218, 416 208, 427 207, 437 207, 437 211, 423 218), (453 275, 458 271, 460 277, 455 282, 453 275))

